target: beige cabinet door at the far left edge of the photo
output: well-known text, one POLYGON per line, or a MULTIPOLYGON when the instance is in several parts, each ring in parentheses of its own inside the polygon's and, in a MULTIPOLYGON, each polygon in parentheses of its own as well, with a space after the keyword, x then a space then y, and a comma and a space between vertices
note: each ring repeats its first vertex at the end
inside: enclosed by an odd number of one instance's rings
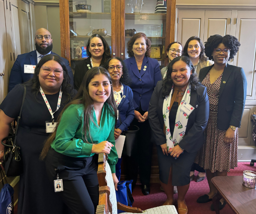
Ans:
POLYGON ((10 4, 0 0, 0 103, 8 93, 8 79, 10 75, 10 60, 13 61, 11 46, 10 4), (3 76, 4 73, 4 76, 3 76))

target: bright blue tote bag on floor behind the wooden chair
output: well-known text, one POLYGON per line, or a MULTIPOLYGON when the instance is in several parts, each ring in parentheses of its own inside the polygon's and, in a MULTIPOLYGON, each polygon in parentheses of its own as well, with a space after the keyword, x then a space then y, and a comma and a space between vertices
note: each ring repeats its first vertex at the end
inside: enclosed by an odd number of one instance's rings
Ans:
MULTIPOLYGON (((132 207, 134 199, 131 195, 131 183, 130 181, 120 181, 118 182, 118 191, 115 191, 116 201, 121 204, 132 207)), ((118 213, 122 213, 123 211, 118 210, 118 213)))

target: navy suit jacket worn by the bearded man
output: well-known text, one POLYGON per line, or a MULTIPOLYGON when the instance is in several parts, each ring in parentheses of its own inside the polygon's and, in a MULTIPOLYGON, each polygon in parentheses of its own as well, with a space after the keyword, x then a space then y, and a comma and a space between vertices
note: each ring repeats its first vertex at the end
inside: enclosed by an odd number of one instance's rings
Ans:
MULTIPOLYGON (((51 51, 51 54, 57 55, 56 53, 53 53, 51 51)), ((61 59, 64 61, 68 76, 70 77, 70 84, 73 87, 74 86, 74 76, 73 72, 71 70, 71 67, 69 66, 69 62, 67 59, 64 59, 61 57, 61 59)), ((33 50, 29 53, 20 54, 17 56, 17 59, 15 60, 13 67, 11 69, 10 73, 10 80, 9 80, 9 92, 11 89, 14 88, 14 86, 21 84, 23 82, 27 82, 30 80, 34 74, 33 73, 24 73, 24 65, 37 65, 37 51, 33 50)))

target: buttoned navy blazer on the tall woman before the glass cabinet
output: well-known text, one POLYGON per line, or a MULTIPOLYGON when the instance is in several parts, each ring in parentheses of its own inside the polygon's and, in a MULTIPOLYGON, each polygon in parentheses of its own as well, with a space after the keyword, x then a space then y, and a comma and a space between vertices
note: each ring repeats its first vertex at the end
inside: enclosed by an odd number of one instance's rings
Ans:
POLYGON ((124 62, 132 81, 130 87, 133 92, 134 108, 135 110, 138 110, 141 104, 141 109, 143 111, 148 111, 148 104, 156 83, 159 80, 162 80, 160 65, 157 59, 144 56, 141 72, 139 72, 134 56, 125 59, 124 62))

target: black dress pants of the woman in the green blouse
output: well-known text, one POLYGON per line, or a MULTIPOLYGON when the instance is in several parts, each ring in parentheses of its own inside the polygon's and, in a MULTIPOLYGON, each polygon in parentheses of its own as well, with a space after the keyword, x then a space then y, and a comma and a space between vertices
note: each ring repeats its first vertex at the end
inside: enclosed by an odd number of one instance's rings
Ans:
POLYGON ((72 214, 93 214, 99 201, 97 177, 98 155, 89 158, 73 158, 62 155, 50 148, 46 156, 46 171, 52 182, 57 178, 63 181, 63 191, 56 192, 70 208, 72 214))

